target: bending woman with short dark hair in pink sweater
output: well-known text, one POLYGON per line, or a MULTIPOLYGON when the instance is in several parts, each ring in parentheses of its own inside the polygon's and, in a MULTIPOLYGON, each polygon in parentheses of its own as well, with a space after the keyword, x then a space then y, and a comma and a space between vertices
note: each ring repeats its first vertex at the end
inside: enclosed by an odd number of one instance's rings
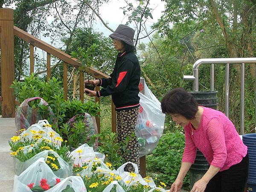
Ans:
POLYGON ((179 192, 183 179, 195 161, 198 148, 209 169, 191 192, 244 192, 249 158, 233 123, 224 113, 198 106, 183 88, 169 91, 161 101, 163 113, 172 116, 185 130, 185 149, 180 172, 170 192, 179 192))

